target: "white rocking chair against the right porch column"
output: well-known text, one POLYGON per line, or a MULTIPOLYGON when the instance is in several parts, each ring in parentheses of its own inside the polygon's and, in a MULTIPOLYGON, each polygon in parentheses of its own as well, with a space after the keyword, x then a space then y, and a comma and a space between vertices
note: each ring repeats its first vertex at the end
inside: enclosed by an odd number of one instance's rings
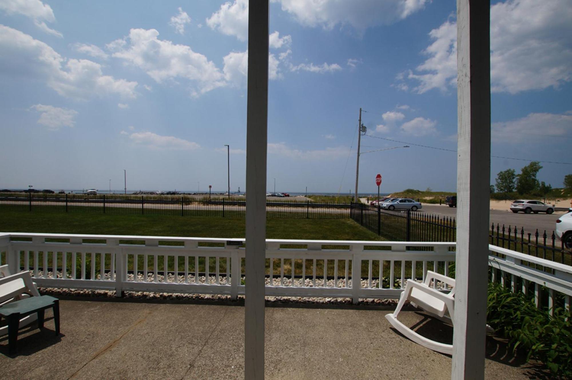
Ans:
POLYGON ((411 330, 411 328, 400 322, 397 319, 397 316, 406 300, 408 300, 413 306, 422 308, 424 311, 436 316, 444 322, 451 323, 455 310, 454 295, 454 279, 432 271, 427 271, 427 275, 425 276, 425 281, 423 283, 415 282, 415 280, 407 281, 407 286, 399 298, 399 303, 395 308, 395 311, 392 314, 387 314, 386 318, 391 323, 391 326, 395 327, 396 330, 415 343, 439 353, 452 355, 452 345, 431 341, 431 339, 419 335, 415 331, 411 330), (446 283, 451 287, 451 290, 443 292, 435 289, 431 286, 431 281, 441 281, 446 283))

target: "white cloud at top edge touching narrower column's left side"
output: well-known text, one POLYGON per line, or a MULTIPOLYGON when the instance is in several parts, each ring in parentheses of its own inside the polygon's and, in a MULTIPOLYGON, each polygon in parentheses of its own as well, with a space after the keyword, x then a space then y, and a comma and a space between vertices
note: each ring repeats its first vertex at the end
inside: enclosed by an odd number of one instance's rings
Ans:
POLYGON ((240 41, 248 38, 248 0, 226 2, 220 9, 206 19, 211 29, 219 29, 221 33, 234 35, 240 41))

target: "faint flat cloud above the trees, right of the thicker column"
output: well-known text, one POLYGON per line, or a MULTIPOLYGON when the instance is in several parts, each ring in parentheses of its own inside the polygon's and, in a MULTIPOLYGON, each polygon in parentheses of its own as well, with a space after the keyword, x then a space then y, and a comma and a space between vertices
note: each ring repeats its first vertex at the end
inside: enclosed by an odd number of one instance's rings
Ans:
POLYGON ((572 114, 530 113, 517 120, 494 122, 492 140, 507 144, 553 141, 572 134, 572 114))

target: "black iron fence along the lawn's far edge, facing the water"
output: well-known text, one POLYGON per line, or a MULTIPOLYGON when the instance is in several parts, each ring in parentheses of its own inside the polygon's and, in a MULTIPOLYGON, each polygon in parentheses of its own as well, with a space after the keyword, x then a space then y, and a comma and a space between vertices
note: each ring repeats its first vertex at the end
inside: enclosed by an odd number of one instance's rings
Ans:
MULTIPOLYGON (((246 201, 169 195, 0 193, 0 211, 244 217, 246 201)), ((349 204, 267 201, 268 217, 345 219, 349 204)))

